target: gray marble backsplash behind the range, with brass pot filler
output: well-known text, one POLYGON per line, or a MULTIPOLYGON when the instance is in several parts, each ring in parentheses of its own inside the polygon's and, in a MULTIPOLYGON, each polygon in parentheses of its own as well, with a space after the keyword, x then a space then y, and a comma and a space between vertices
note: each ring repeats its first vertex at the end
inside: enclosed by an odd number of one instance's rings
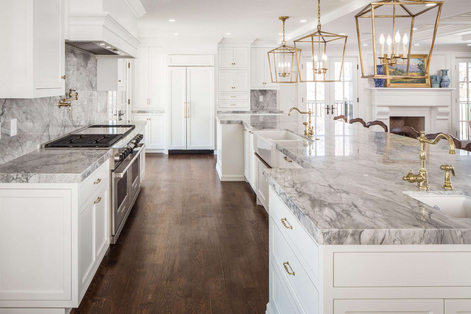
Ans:
MULTIPOLYGON (((65 90, 76 89, 71 111, 59 108, 64 97, 0 98, 0 164, 40 148, 41 144, 106 120, 106 92, 97 91, 97 60, 65 49, 65 90), (17 119, 17 135, 10 137, 10 120, 17 119)), ((68 95, 67 95, 68 96, 68 95)))

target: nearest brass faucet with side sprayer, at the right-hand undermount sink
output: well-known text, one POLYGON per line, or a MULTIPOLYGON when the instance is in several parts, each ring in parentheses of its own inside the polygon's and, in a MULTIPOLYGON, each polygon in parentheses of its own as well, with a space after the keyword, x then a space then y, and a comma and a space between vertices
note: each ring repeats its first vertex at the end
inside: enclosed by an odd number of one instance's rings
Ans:
MULTIPOLYGON (((437 135, 437 137, 435 137, 434 140, 430 140, 430 139, 427 139, 425 137, 425 131, 420 131, 420 137, 417 137, 417 139, 420 142, 420 154, 419 154, 419 156, 420 156, 420 169, 419 169, 419 173, 414 174, 412 172, 412 170, 410 170, 409 173, 407 173, 406 176, 402 177, 402 179, 404 181, 407 181, 409 183, 417 183, 417 187, 421 190, 424 190, 424 191, 427 191, 430 188, 430 186, 429 186, 429 177, 427 176, 427 170, 425 169, 425 160, 426 160, 425 144, 428 143, 428 144, 435 145, 439 142, 439 140, 442 137, 445 137, 447 139, 448 145, 450 146, 449 150, 448 150, 448 153, 452 154, 452 155, 456 154, 455 143, 453 143, 453 139, 448 134, 440 133, 439 135, 437 135)), ((453 169, 453 166, 450 166, 450 165, 446 165, 446 166, 451 167, 451 168, 446 167, 448 169, 448 171, 453 169)), ((446 169, 442 169, 442 170, 446 170, 446 169)), ((453 169, 453 175, 455 175, 455 170, 454 169, 453 169)), ((449 174, 448 174, 448 182, 447 182, 447 177, 445 177, 445 184, 444 185, 447 186, 447 187, 445 187, 445 186, 442 185, 444 188, 447 188, 447 189, 452 189, 453 188, 453 186, 451 185, 451 182, 450 182, 449 174)))

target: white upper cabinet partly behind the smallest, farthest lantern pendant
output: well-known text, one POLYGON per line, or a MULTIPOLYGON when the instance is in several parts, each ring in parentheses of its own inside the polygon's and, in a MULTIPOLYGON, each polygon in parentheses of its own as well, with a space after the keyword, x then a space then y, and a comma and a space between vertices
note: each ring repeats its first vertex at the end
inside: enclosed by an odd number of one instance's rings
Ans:
POLYGON ((272 48, 251 48, 251 89, 278 89, 278 83, 272 83, 270 71, 273 78, 276 75, 274 64, 268 63, 268 51, 272 48), (270 67, 271 65, 271 67, 270 67))

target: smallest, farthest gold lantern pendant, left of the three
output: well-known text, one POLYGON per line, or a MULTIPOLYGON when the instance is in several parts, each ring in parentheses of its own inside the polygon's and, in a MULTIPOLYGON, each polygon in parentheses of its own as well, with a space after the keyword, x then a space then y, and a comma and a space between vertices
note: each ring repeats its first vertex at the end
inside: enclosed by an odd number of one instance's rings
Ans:
POLYGON ((268 64, 272 83, 298 82, 297 75, 292 75, 292 66, 295 58, 294 55, 296 55, 297 59, 298 54, 301 54, 301 49, 286 46, 286 41, 284 40, 284 21, 288 18, 288 16, 278 17, 278 19, 283 21, 283 41, 280 47, 268 51, 268 64), (274 71, 271 67, 272 62, 274 71))

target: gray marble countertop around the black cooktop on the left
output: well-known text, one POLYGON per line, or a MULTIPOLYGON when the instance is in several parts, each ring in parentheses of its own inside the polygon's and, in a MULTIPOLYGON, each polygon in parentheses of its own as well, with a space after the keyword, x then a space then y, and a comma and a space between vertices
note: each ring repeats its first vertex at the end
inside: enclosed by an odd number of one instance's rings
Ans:
POLYGON ((34 150, 0 165, 0 183, 81 183, 112 156, 112 148, 126 144, 141 132, 146 121, 97 121, 93 124, 134 124, 136 127, 110 148, 34 150))

